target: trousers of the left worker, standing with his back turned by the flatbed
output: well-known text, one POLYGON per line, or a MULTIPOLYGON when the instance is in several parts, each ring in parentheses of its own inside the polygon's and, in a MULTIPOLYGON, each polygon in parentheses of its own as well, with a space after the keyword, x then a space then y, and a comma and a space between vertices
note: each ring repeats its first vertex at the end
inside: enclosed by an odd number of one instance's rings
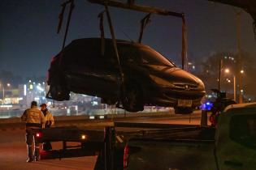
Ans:
POLYGON ((35 136, 35 132, 33 129, 29 128, 26 130, 26 143, 27 143, 29 159, 34 159, 34 158, 39 159, 40 147, 39 147, 39 143, 36 142, 34 136, 35 136))

